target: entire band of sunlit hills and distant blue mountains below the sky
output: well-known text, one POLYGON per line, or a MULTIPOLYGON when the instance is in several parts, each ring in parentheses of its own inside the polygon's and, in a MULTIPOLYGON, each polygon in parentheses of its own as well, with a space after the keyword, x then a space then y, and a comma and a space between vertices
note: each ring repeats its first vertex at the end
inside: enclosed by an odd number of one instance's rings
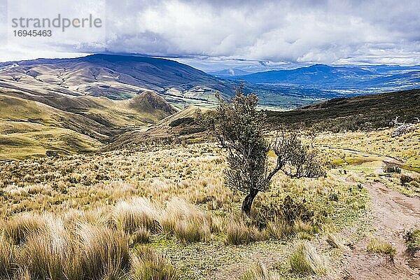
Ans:
POLYGON ((49 150, 96 151, 124 135, 170 134, 172 122, 172 130, 188 134, 197 129, 189 125, 195 111, 190 106, 215 106, 216 92, 232 97, 239 83, 246 93, 258 94, 262 109, 295 109, 363 90, 418 87, 419 73, 420 66, 317 64, 247 75, 237 71, 233 74, 241 76, 224 79, 155 57, 89 55, 4 62, 0 152, 21 159, 49 150), (148 134, 141 133, 145 130, 148 134))

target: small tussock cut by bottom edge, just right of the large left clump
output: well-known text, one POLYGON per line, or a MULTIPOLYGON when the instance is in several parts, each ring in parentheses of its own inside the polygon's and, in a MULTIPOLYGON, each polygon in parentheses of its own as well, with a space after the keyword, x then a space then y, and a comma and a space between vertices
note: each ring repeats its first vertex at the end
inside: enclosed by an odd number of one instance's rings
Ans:
POLYGON ((143 246, 132 256, 132 279, 177 280, 179 276, 163 255, 143 246))

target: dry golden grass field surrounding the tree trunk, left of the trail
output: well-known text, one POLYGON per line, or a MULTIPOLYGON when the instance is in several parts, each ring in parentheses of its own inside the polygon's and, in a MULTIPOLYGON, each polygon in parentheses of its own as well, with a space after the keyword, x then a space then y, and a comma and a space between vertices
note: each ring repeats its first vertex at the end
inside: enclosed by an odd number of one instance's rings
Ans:
POLYGON ((224 162, 213 144, 194 144, 6 163, 0 167, 0 213, 6 224, 1 238, 6 246, 15 244, 13 253, 6 254, 9 260, 15 253, 26 258, 7 271, 21 279, 93 274, 102 279, 200 279, 200 273, 212 279, 225 265, 245 262, 244 255, 254 253, 253 244, 269 250, 293 244, 295 237, 316 239, 324 225, 349 223, 364 211, 354 206, 365 204, 366 190, 338 182, 332 170, 321 179, 279 174, 272 190, 258 194, 255 217, 244 219, 244 195, 224 186, 224 162), (286 223, 281 215, 266 223, 256 220, 262 209, 281 208, 286 196, 305 201, 314 212, 308 221, 286 223), (139 253, 143 244, 153 250, 152 260, 141 259, 148 255, 139 253), (35 248, 41 253, 36 255, 35 248), (212 248, 217 251, 210 252, 215 254, 211 260, 200 255, 212 248), (31 264, 44 269, 31 269, 31 264), (166 272, 153 276, 158 271, 153 267, 166 272))

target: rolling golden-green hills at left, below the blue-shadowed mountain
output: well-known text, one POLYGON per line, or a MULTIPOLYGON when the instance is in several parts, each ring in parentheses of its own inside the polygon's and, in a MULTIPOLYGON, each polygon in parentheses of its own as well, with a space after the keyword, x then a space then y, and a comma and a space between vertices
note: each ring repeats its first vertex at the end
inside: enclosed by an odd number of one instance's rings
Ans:
POLYGON ((0 94, 0 160, 36 158, 46 151, 62 155, 97 151, 125 130, 147 127, 176 112, 153 92, 124 101, 105 97, 48 100, 44 104, 0 94))

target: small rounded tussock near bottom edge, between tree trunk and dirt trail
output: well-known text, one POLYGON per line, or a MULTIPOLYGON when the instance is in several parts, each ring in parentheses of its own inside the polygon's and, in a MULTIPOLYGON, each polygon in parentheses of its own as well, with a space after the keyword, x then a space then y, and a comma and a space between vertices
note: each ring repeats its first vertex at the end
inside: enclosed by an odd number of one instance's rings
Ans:
POLYGON ((293 272, 317 275, 325 275, 328 272, 325 258, 319 255, 315 246, 308 241, 303 241, 297 246, 289 262, 293 272))

